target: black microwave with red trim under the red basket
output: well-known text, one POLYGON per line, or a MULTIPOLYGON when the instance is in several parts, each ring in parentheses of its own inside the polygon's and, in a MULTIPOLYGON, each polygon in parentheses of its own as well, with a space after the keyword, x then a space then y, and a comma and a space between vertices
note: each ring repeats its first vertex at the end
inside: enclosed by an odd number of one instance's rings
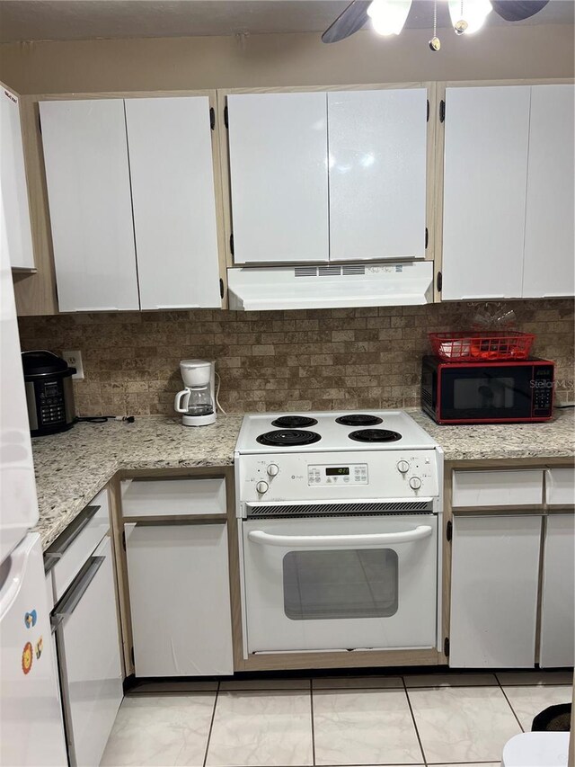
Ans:
POLYGON ((548 421, 553 415, 553 362, 444 362, 424 357, 421 408, 438 424, 548 421))

